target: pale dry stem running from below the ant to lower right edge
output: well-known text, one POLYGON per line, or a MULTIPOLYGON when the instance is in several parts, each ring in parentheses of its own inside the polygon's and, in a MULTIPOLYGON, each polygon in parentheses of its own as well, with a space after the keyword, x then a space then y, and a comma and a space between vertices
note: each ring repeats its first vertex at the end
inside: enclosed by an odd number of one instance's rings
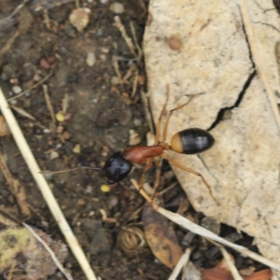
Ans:
MULTIPOLYGON (((132 184, 134 185, 137 190, 139 190, 139 185, 137 181, 134 179, 131 180, 132 184)), ((215 233, 207 230, 206 228, 202 228, 200 225, 197 225, 191 221, 189 221, 187 218, 173 213, 171 211, 168 211, 166 209, 163 209, 162 207, 159 207, 155 202, 151 200, 151 197, 149 197, 144 190, 139 190, 139 193, 152 204, 153 209, 155 211, 158 211, 158 213, 162 214, 166 218, 168 218, 170 221, 176 223, 177 225, 181 225, 182 228, 186 228, 187 230, 190 230, 191 232, 195 233, 196 235, 200 235, 202 237, 205 237, 207 239, 211 239, 212 241, 217 241, 220 244, 223 244, 225 246, 229 246, 230 248, 235 249, 235 251, 238 251, 239 253, 242 253, 244 255, 247 255, 248 257, 252 258, 253 260, 257 260, 258 262, 261 262, 264 265, 267 265, 268 267, 274 268, 276 270, 280 271, 280 264, 276 262, 272 262, 271 260, 268 260, 267 258, 263 257, 262 255, 259 255, 257 253, 254 253, 244 246, 240 246, 237 244, 234 244, 226 239, 223 239, 222 237, 219 237, 215 233)))

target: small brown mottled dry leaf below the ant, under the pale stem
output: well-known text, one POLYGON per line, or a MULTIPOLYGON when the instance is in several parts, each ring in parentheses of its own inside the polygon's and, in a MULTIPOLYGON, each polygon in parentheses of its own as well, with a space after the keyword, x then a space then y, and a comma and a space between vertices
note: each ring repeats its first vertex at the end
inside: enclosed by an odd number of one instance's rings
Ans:
POLYGON ((164 216, 153 210, 151 204, 146 202, 142 221, 146 241, 153 254, 169 268, 174 268, 183 255, 174 229, 169 225, 169 221, 164 216))

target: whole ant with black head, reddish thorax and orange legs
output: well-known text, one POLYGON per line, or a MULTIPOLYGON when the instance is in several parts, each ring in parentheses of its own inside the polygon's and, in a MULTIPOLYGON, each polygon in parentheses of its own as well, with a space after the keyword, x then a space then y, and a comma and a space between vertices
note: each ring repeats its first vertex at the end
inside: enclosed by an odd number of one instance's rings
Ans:
MULTIPOLYGON (((202 130, 197 127, 188 128, 186 130, 182 130, 181 132, 177 132, 176 134, 173 135, 171 144, 169 145, 166 143, 167 129, 168 129, 169 120, 170 120, 172 114, 175 111, 178 111, 179 109, 182 109, 184 106, 188 105, 194 97, 195 97, 195 95, 191 95, 188 102, 169 111, 169 114, 167 116, 167 120, 165 123, 165 127, 163 130, 162 141, 160 141, 160 126, 161 126, 162 117, 165 114, 167 102, 169 99, 169 85, 167 85, 167 99, 166 99, 165 105, 163 106, 162 111, 160 113, 160 118, 158 119, 158 124, 156 125, 156 134, 155 134, 155 143, 156 144, 155 145, 153 145, 153 146, 134 146, 134 147, 130 147, 130 148, 125 148, 125 151, 123 151, 123 153, 117 152, 117 153, 114 153, 113 155, 111 155, 111 158, 106 160, 103 168, 78 167, 78 168, 74 168, 74 169, 69 169, 67 171, 76 170, 76 169, 80 169, 80 168, 100 170, 100 171, 102 171, 102 176, 104 176, 106 183, 111 185, 113 183, 117 183, 117 182, 125 179, 125 177, 130 173, 133 163, 146 164, 146 166, 144 167, 143 174, 141 176, 140 184, 139 184, 140 189, 141 189, 144 184, 145 173, 148 171, 148 169, 150 169, 151 165, 154 162, 155 167, 157 169, 154 189, 157 190, 159 181, 160 181, 160 158, 162 158, 162 159, 165 159, 168 162, 170 162, 172 165, 185 170, 186 172, 190 172, 192 174, 200 176, 200 178, 202 179, 205 186, 207 186, 207 188, 209 189, 209 193, 210 193, 211 197, 213 197, 215 202, 217 204, 219 204, 211 192, 211 187, 209 186, 207 181, 204 179, 202 174, 200 174, 200 172, 196 172, 193 169, 190 169, 188 167, 185 167, 184 165, 181 165, 181 163, 176 162, 176 160, 173 160, 172 158, 169 158, 167 153, 165 153, 165 151, 172 150, 172 151, 175 151, 176 153, 194 155, 197 153, 202 153, 204 151, 207 151, 209 148, 211 148, 214 145, 214 142, 215 142, 214 137, 212 137, 212 135, 209 132, 207 132, 206 130, 202 130)), ((54 173, 58 173, 58 172, 54 172, 54 173)))

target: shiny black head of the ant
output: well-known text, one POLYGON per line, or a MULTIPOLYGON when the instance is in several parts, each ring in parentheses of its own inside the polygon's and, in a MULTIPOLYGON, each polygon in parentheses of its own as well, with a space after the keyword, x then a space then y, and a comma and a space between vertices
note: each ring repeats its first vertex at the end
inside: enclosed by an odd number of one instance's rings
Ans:
POLYGON ((102 175, 109 185, 122 181, 132 169, 132 163, 125 160, 122 153, 114 153, 111 158, 106 160, 102 170, 102 175))

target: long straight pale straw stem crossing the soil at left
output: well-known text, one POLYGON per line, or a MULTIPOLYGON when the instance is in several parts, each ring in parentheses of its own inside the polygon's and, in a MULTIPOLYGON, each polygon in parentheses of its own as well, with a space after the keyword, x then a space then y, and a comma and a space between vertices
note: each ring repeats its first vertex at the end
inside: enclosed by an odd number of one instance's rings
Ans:
POLYGON ((6 119, 8 127, 10 128, 10 132, 13 134, 15 142, 18 145, 18 148, 20 149, 20 153, 22 153, 22 157, 25 159, 25 162, 27 163, 31 174, 34 177, 38 188, 41 190, 45 202, 48 204, 50 212, 55 218, 57 225, 59 225, 59 228, 62 231, 67 243, 69 244, 73 255, 76 257, 76 260, 78 260, 78 263, 83 269, 83 272, 85 273, 87 279, 97 280, 96 276, 94 275, 94 272, 92 271, 92 268, 90 267, 89 262, 87 261, 87 258, 85 257, 85 253, 83 252, 82 248, 80 248, 78 240, 76 239, 75 235, 73 235, 73 232, 69 224, 67 223, 66 218, 62 214, 62 211, 59 205, 57 204, 57 201, 55 200, 52 191, 50 190, 50 186, 48 186, 45 177, 42 174, 38 173, 40 172, 40 167, 38 167, 38 163, 36 162, 34 155, 31 153, 27 141, 23 136, 22 131, 20 130, 18 122, 17 120, 15 120, 15 116, 13 116, 13 113, 8 106, 8 102, 6 101, 1 87, 0 109, 4 118, 6 119))

